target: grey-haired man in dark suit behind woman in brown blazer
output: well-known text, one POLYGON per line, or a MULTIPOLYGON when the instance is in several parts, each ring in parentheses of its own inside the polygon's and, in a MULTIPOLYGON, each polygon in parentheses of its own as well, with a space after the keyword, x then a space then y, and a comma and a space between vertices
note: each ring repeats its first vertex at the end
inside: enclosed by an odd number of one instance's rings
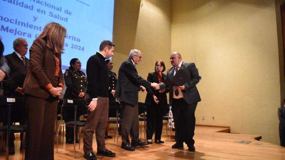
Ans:
MULTIPOLYGON (((23 83, 27 72, 30 68, 30 60, 25 57, 28 51, 28 43, 24 38, 17 38, 13 42, 13 53, 6 55, 8 66, 10 68, 10 74, 7 81, 3 81, 3 95, 13 97, 25 97, 22 91, 23 83)), ((26 109, 25 104, 13 109, 12 121, 20 122, 20 124, 26 124, 26 109)), ((9 154, 15 154, 14 148, 14 134, 11 134, 9 142, 9 154)), ((23 139, 23 133, 20 135, 20 139, 23 139)), ((20 149, 22 148, 22 143, 20 149)))

